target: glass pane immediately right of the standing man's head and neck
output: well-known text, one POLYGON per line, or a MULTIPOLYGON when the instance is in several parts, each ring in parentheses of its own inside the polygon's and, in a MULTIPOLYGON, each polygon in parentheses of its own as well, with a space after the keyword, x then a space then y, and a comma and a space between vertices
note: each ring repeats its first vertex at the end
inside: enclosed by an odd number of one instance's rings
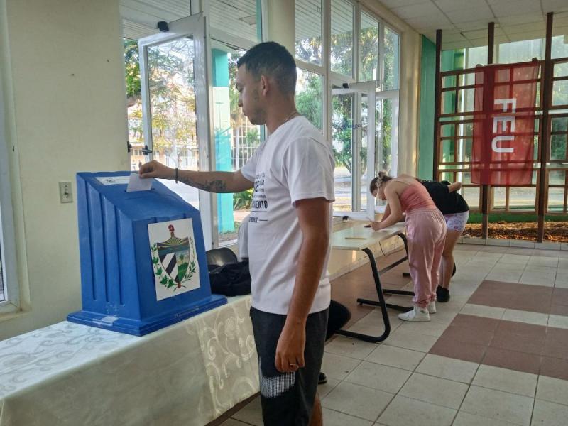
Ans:
POLYGON ((322 131, 322 82, 315 72, 296 68, 296 107, 310 123, 322 131))

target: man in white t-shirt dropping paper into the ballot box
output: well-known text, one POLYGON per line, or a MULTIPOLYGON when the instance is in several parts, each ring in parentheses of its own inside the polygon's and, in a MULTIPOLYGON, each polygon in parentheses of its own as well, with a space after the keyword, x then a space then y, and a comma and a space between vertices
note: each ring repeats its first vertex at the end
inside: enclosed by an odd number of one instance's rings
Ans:
POLYGON ((296 110, 296 65, 283 46, 258 44, 237 67, 239 106, 270 132, 249 162, 236 172, 195 172, 153 161, 140 175, 211 192, 254 187, 248 249, 263 420, 322 425, 317 379, 330 300, 334 155, 296 110))

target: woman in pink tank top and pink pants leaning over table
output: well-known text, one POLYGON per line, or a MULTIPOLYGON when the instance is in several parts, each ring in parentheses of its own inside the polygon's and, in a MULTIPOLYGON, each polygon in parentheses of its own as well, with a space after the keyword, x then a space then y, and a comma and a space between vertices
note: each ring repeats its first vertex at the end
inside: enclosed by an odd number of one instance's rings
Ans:
POLYGON ((409 175, 392 178, 381 172, 371 180, 373 197, 387 201, 381 222, 371 222, 378 231, 406 216, 408 268, 414 285, 414 308, 398 315, 405 321, 430 321, 436 312, 436 288, 442 261, 446 222, 426 188, 409 175))

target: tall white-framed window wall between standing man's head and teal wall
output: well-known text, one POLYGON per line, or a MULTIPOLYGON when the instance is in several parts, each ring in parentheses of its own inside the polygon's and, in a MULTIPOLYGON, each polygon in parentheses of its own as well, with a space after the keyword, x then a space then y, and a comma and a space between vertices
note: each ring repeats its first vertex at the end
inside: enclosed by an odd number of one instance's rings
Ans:
POLYGON ((297 108, 332 141, 334 210, 371 214, 372 174, 397 173, 400 35, 358 2, 297 0, 295 56, 297 108))

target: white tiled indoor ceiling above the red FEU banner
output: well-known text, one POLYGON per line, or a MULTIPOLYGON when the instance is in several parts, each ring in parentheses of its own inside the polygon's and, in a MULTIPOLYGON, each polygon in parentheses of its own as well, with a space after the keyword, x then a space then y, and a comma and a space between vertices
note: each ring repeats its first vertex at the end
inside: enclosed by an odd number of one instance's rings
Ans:
POLYGON ((547 12, 555 12, 553 35, 568 43, 568 0, 379 0, 400 19, 436 40, 444 50, 487 45, 489 22, 495 43, 544 38, 547 12))

